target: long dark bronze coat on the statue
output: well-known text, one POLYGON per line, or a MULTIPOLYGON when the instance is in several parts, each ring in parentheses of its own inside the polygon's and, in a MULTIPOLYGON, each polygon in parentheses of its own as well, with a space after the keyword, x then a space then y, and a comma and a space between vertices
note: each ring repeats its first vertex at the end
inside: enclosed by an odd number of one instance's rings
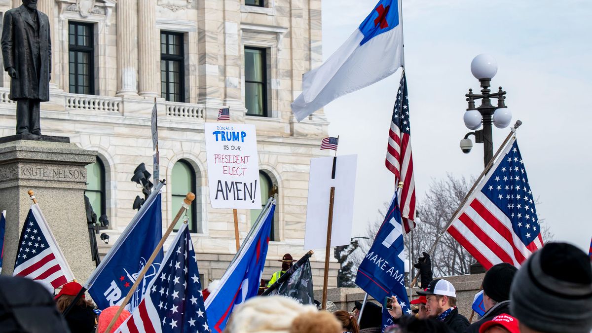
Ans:
POLYGON ((13 67, 17 71, 17 78, 11 78, 10 99, 49 101, 52 41, 47 15, 37 11, 37 23, 33 22, 22 5, 4 14, 2 29, 4 70, 13 67), (34 50, 38 50, 38 57, 34 50))

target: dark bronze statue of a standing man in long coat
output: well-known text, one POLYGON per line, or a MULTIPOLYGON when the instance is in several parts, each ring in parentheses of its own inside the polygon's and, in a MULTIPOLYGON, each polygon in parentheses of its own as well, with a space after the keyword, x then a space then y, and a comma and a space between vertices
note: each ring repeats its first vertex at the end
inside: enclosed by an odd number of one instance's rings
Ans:
MULTIPOLYGON (((47 0, 46 0, 47 1, 47 0)), ((37 10, 37 0, 4 14, 2 56, 12 78, 9 98, 17 101, 17 135, 41 135, 39 104, 49 101, 52 41, 49 19, 37 10)))

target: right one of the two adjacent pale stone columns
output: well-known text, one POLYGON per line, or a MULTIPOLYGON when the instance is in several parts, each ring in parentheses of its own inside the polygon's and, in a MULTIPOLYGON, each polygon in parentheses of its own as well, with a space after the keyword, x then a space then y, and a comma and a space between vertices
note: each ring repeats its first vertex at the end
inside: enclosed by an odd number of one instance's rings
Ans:
POLYGON ((157 52, 160 37, 156 33, 156 6, 150 0, 138 2, 138 57, 140 95, 157 97, 160 85, 157 52))

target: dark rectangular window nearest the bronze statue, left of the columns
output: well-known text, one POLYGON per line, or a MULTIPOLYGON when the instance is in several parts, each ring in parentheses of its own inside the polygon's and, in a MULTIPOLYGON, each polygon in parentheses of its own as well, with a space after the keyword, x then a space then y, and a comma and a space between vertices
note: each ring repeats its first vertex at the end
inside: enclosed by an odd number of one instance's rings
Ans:
POLYGON ((94 95, 94 41, 91 23, 68 23, 70 92, 94 95))

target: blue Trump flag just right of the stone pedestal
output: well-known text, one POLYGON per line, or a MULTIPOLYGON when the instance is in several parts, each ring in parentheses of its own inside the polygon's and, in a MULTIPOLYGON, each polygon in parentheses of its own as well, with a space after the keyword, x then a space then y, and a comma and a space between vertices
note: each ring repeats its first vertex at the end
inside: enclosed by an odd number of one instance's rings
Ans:
MULTIPOLYGON (((140 271, 146 265, 146 261, 162 239, 160 188, 162 188, 162 182, 156 184, 152 194, 84 285, 96 306, 101 310, 109 306, 121 305, 140 271)), ((126 306, 130 312, 140 304, 146 293, 146 287, 159 270, 162 258, 161 249, 126 306)))

